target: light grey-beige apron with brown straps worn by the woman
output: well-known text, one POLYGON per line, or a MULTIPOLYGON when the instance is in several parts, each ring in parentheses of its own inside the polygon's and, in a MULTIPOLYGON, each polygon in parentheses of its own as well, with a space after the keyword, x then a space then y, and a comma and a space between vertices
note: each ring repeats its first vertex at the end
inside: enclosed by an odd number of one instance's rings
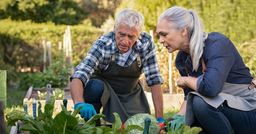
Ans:
MULTIPOLYGON (((206 37, 207 38, 207 37, 206 37)), ((202 60, 203 73, 206 70, 204 61, 202 60)), ((185 65, 185 68, 186 65, 185 65)), ((186 69, 188 74, 188 71, 186 69)), ((204 75, 204 74, 203 74, 204 75)), ((218 108, 225 102, 230 108, 235 108, 243 111, 250 111, 256 108, 256 88, 248 89, 250 84, 231 84, 225 83, 221 93, 216 97, 205 97, 198 92, 188 93, 185 123, 190 126, 195 121, 195 113, 193 110, 193 98, 195 95, 204 99, 204 101, 214 108, 218 108)))

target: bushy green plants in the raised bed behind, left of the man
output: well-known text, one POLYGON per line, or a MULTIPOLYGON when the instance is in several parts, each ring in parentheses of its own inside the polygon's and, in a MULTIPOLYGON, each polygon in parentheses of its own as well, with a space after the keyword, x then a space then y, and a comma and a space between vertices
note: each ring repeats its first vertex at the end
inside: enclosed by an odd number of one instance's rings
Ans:
MULTIPOLYGON (((64 87, 67 85, 71 65, 62 60, 62 55, 62 51, 59 51, 59 56, 53 60, 52 66, 48 66, 45 72, 29 73, 21 77, 20 87, 44 87, 47 84, 51 84, 52 87, 64 87)), ((58 96, 58 99, 64 97, 64 93, 62 91, 57 89, 55 92, 57 93, 56 96, 58 96)))

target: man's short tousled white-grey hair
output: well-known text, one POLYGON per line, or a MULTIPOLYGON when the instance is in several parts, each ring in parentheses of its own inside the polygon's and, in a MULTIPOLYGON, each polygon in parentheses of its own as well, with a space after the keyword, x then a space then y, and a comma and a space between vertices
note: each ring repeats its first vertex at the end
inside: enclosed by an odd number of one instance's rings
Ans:
POLYGON ((144 25, 144 16, 134 9, 124 9, 117 14, 115 30, 118 29, 120 22, 123 22, 129 28, 135 28, 140 34, 144 25))

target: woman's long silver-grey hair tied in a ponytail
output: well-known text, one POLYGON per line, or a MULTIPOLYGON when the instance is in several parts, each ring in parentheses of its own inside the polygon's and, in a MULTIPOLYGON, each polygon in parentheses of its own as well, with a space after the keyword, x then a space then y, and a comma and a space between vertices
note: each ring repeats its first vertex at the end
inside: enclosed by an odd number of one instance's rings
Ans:
POLYGON ((193 71, 197 71, 199 60, 204 52, 204 24, 193 9, 174 6, 164 11, 159 19, 165 19, 176 31, 187 28, 189 33, 189 53, 193 59, 193 71))

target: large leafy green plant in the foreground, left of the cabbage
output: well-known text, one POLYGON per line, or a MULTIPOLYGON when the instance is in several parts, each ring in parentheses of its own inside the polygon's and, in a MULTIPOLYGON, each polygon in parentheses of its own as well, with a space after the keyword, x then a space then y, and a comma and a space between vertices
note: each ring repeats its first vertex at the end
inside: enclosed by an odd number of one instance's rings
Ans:
MULTIPOLYGON (((13 110, 8 113, 5 117, 8 126, 15 126, 15 122, 21 121, 25 125, 21 126, 20 130, 29 131, 30 134, 44 134, 44 133, 56 133, 56 134, 80 134, 80 133, 110 133, 118 134, 121 128, 122 122, 117 113, 115 115, 116 121, 112 124, 112 129, 110 127, 99 126, 95 127, 95 119, 105 117, 103 114, 97 114, 92 116, 92 118, 87 121, 83 127, 80 129, 78 126, 79 117, 76 117, 78 112, 82 107, 77 108, 72 111, 68 111, 66 107, 61 105, 62 111, 58 113, 55 118, 52 118, 52 113, 54 109, 55 99, 51 98, 47 101, 44 106, 44 113, 41 110, 41 103, 38 101, 38 116, 32 118, 25 111, 13 110)), ((133 129, 143 129, 140 126, 132 126, 127 128, 121 134, 129 132, 133 129)))

